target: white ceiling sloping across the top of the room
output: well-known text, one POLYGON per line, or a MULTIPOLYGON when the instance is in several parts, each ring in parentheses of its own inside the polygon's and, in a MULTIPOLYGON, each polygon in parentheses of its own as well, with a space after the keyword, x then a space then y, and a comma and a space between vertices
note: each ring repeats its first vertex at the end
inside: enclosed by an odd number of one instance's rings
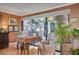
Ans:
POLYGON ((69 3, 0 3, 0 12, 15 14, 18 16, 28 15, 44 10, 63 7, 69 3))

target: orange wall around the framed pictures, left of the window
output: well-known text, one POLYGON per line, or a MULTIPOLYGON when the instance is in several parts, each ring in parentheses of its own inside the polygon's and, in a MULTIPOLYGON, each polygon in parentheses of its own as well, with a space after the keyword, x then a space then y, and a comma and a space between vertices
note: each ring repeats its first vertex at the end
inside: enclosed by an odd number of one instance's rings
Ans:
MULTIPOLYGON (((3 12, 0 12, 0 15, 2 16, 1 26, 7 26, 7 29, 8 29, 9 18, 15 18, 17 20, 17 24, 20 25, 21 18, 19 16, 8 14, 8 13, 3 13, 3 12)), ((17 32, 9 32, 9 42, 10 43, 14 42, 16 40, 16 34, 17 34, 17 32)))

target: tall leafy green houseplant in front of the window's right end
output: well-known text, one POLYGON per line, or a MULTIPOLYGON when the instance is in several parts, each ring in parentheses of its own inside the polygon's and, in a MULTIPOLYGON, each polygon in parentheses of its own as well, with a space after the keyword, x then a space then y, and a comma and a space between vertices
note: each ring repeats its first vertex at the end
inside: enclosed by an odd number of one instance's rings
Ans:
POLYGON ((62 54, 62 45, 65 44, 67 46, 70 45, 70 37, 72 36, 72 30, 70 31, 69 25, 57 25, 57 28, 55 29, 55 35, 56 35, 56 51, 58 50, 62 54))

